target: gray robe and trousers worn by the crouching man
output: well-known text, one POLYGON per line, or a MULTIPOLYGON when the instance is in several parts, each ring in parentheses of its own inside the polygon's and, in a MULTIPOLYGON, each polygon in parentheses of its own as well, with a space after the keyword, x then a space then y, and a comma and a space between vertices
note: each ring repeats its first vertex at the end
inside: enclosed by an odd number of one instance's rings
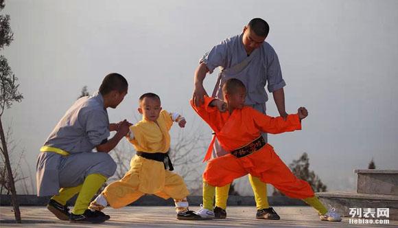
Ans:
POLYGON ((40 152, 36 166, 38 196, 53 196, 61 187, 75 187, 89 174, 107 178, 116 170, 116 163, 106 152, 93 148, 109 137, 108 113, 100 93, 80 98, 65 113, 51 132, 44 146, 58 148, 57 152, 40 152))

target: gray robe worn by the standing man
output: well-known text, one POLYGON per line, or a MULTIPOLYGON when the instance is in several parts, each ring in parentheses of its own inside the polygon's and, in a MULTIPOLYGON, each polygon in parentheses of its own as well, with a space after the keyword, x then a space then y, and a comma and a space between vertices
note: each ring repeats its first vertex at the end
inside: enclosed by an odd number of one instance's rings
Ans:
MULTIPOLYGON (((247 89, 245 104, 252 106, 257 111, 266 114, 266 102, 270 93, 285 87, 282 78, 281 66, 277 53, 267 42, 255 49, 250 56, 247 55, 243 45, 243 34, 226 38, 219 45, 215 45, 210 52, 200 59, 209 73, 217 67, 221 67, 218 82, 212 97, 222 99, 222 84, 229 78, 241 80, 247 89)), ((267 142, 267 134, 262 134, 267 142)), ((215 138, 213 157, 220 157, 226 152, 220 147, 215 138)))

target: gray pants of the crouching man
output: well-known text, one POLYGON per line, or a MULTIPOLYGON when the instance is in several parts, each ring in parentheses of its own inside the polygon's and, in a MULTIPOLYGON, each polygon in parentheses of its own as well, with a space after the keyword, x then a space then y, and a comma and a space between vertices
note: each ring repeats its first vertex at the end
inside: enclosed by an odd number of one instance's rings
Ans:
POLYGON ((54 152, 40 152, 36 166, 38 196, 53 196, 61 187, 75 187, 89 174, 102 174, 109 178, 117 165, 105 152, 82 152, 69 156, 54 152))

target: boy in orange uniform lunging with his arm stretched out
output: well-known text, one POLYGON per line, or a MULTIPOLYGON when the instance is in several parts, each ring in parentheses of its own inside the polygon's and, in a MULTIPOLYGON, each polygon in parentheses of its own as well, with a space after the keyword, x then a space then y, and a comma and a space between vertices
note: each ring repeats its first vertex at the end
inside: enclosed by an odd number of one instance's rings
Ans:
POLYGON ((265 183, 271 183, 286 196, 303 199, 318 211, 321 220, 340 221, 340 215, 334 209, 328 211, 314 196, 309 184, 297 179, 272 146, 261 137, 261 132, 278 134, 301 130, 301 119, 307 117, 307 109, 299 108, 297 114, 288 115, 286 120, 283 117, 269 117, 244 106, 246 87, 240 80, 227 80, 222 91, 226 102, 205 97, 204 104, 195 106, 191 101, 196 113, 215 132, 221 146, 230 152, 207 163, 203 173, 203 207, 197 213, 202 218, 213 218, 215 187, 251 174, 265 183))

